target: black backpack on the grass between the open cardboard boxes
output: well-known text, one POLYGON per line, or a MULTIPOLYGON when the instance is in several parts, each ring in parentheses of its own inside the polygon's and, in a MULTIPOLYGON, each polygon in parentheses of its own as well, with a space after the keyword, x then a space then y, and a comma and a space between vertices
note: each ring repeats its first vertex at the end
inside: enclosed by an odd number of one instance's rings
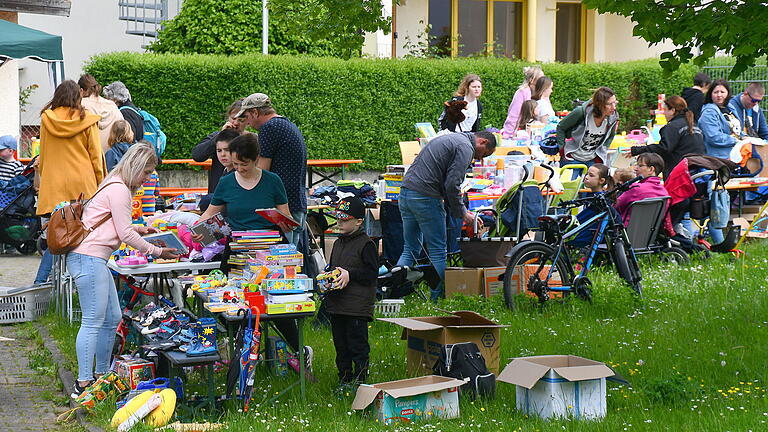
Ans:
POLYGON ((432 371, 456 379, 469 378, 459 393, 468 394, 473 400, 478 396, 493 399, 496 393, 496 375, 485 366, 485 359, 474 342, 444 345, 432 371))

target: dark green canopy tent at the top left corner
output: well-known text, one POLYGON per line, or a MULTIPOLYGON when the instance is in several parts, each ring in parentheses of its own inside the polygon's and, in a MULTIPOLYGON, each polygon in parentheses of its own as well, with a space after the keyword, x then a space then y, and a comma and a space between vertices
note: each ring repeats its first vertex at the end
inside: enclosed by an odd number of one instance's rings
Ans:
POLYGON ((48 78, 54 89, 64 80, 61 36, 0 20, 0 60, 23 58, 48 63, 48 78))

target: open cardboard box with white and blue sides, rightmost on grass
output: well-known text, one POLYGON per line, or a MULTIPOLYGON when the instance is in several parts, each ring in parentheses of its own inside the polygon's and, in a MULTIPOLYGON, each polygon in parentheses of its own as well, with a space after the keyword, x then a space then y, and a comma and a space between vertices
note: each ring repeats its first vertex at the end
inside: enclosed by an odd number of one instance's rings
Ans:
POLYGON ((497 381, 517 386, 517 409, 542 418, 596 420, 606 414, 605 379, 625 382, 604 363, 570 355, 520 357, 497 381))

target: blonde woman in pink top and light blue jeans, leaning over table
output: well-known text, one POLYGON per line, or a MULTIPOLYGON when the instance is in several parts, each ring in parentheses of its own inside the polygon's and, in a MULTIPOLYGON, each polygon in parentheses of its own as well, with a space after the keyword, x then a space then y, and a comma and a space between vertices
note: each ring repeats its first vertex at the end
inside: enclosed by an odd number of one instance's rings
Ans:
MULTIPOLYGON (((78 395, 95 377, 109 370, 115 330, 122 314, 115 283, 107 260, 120 243, 160 258, 175 258, 176 250, 159 248, 141 236, 154 228, 131 224, 131 197, 157 165, 155 150, 149 144, 134 144, 101 182, 83 212, 83 223, 93 227, 106 216, 83 242, 67 254, 67 269, 74 277, 83 318, 77 333, 78 395), (95 358, 95 370, 94 370, 95 358)), ((74 394, 73 393, 73 394, 74 394)))

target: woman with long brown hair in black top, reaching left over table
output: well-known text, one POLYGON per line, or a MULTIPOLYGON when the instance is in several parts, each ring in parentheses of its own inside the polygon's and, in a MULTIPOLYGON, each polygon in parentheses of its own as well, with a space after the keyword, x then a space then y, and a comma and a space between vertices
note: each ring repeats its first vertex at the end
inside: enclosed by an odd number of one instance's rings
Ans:
POLYGON ((667 124, 661 128, 661 140, 658 144, 630 147, 625 157, 637 156, 643 153, 656 153, 664 160, 664 178, 683 160, 687 154, 705 154, 704 135, 696 127, 693 112, 680 96, 667 96, 664 99, 664 117, 667 124))

